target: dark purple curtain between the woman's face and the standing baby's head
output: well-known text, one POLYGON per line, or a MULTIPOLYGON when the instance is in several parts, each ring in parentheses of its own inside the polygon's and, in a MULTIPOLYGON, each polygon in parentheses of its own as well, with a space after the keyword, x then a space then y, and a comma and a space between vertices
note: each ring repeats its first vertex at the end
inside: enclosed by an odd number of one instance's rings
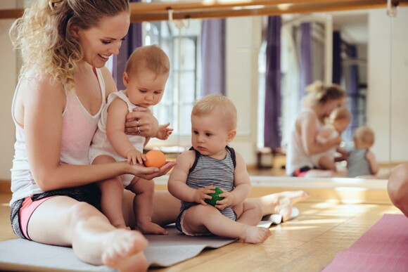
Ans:
MULTIPOLYGON (((130 0, 129 2, 140 2, 141 0, 130 0)), ((113 79, 115 79, 118 90, 125 89, 125 85, 122 82, 122 75, 125 71, 126 61, 130 54, 139 46, 143 45, 141 22, 132 22, 129 27, 129 32, 125 41, 122 41, 120 51, 117 56, 113 56, 113 79)))

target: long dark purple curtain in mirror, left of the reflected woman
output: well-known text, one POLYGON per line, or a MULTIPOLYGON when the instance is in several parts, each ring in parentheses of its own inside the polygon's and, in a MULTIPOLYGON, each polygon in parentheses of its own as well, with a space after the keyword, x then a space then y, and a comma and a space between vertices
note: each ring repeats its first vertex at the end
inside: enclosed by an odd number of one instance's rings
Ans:
POLYGON ((281 147, 281 17, 268 17, 264 146, 281 147))

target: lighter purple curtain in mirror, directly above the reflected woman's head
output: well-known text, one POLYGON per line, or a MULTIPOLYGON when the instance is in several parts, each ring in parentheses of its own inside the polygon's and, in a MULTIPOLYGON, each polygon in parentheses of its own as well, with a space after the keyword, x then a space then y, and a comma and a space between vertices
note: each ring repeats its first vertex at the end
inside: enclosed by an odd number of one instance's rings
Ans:
POLYGON ((305 95, 305 88, 313 82, 312 24, 303 22, 300 25, 300 98, 305 95))

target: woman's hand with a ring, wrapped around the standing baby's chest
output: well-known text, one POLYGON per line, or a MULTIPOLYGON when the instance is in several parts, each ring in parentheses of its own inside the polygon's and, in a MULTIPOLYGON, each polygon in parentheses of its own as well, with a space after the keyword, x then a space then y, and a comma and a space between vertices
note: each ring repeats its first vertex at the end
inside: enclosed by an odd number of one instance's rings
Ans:
POLYGON ((158 130, 159 122, 148 108, 136 107, 126 115, 125 134, 155 137, 158 130))

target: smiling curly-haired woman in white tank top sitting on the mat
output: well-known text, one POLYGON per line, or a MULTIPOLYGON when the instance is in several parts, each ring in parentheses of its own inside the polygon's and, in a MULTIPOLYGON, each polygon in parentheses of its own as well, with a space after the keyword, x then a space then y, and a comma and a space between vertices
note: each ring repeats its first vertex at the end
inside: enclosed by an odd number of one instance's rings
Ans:
MULTIPOLYGON (((99 210, 95 181, 121 174, 153 179, 169 171, 127 162, 89 165, 87 157, 101 108, 117 91, 108 58, 119 51, 129 28, 127 0, 39 0, 11 29, 23 67, 13 99, 16 127, 11 175, 13 230, 22 238, 72 246, 89 264, 119 271, 145 271, 146 239, 137 231, 117 229, 99 210)), ((132 112, 127 133, 157 133, 150 112, 132 112), (132 121, 135 120, 136 121, 132 121)), ((264 214, 290 215, 304 192, 258 198, 264 214), (289 212, 288 212, 289 211, 289 212)), ((133 198, 124 195, 127 226, 134 226, 133 198)), ((174 222, 180 203, 168 192, 155 194, 152 221, 174 222)))

